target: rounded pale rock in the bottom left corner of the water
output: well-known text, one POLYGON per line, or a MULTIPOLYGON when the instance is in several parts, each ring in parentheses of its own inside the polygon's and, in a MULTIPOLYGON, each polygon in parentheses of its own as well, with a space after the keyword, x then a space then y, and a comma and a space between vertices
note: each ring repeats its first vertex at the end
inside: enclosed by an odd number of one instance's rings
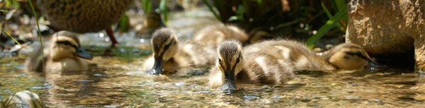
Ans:
POLYGON ((34 92, 21 91, 1 101, 0 107, 45 108, 46 106, 34 92))

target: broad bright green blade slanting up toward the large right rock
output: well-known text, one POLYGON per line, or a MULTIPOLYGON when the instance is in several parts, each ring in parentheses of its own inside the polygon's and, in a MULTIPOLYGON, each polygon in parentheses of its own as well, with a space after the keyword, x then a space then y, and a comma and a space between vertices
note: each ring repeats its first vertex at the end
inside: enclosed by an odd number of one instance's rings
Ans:
POLYGON ((343 8, 343 10, 339 11, 338 13, 335 14, 334 17, 332 17, 330 20, 327 21, 326 24, 324 24, 322 26, 322 28, 320 28, 319 30, 317 30, 317 33, 315 35, 313 35, 312 37, 310 37, 307 42, 305 42, 307 44, 307 47, 309 47, 310 49, 312 49, 314 47, 314 43, 317 42, 317 40, 319 40, 326 32, 328 32, 336 23, 339 22, 339 20, 341 20, 344 17, 347 17, 347 8, 343 8))

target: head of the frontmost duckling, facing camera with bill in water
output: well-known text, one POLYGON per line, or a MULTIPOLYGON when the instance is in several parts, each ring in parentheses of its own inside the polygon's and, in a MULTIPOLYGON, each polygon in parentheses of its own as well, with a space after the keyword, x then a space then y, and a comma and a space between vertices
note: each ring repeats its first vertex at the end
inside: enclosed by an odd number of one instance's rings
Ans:
POLYGON ((222 81, 227 83, 229 89, 236 89, 236 76, 244 67, 242 44, 237 40, 222 42, 218 48, 218 59, 215 62, 222 73, 222 81))

